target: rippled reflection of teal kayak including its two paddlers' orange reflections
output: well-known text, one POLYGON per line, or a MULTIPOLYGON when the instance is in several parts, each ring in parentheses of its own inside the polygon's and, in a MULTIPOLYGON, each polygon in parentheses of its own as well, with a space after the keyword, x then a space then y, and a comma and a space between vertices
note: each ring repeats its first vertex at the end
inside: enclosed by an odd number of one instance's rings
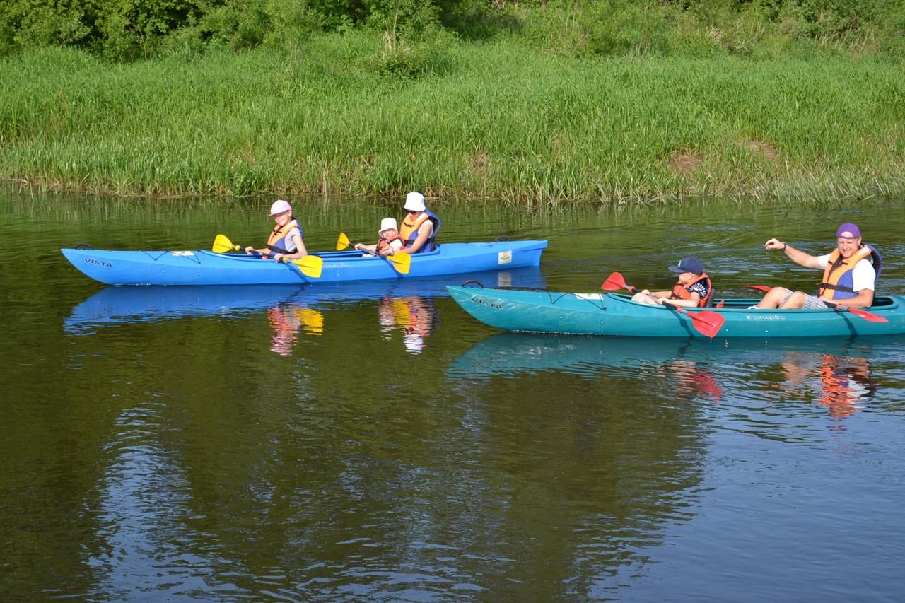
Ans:
MULTIPOLYGON (((666 388, 675 399, 757 405, 814 401, 838 421, 871 401, 889 368, 898 371, 905 341, 863 340, 608 340, 595 337, 503 333, 475 344, 454 360, 447 378, 476 384, 491 378, 524 378, 559 372, 605 378, 625 387, 641 381, 643 391, 666 388)), ((629 388, 630 390, 632 387, 629 388)), ((620 395, 622 390, 614 390, 620 395)), ((757 418, 758 428, 769 417, 757 418)))

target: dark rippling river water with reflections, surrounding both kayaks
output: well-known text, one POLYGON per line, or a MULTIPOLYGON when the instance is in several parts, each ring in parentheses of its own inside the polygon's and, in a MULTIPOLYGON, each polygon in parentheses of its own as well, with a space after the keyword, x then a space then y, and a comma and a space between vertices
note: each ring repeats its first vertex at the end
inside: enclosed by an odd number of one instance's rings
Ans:
MULTIPOLYGON (((5 600, 900 601, 905 338, 506 334, 447 280, 109 288, 60 247, 262 244, 272 199, 0 193, 5 600)), ((310 249, 377 201, 296 201, 310 249)), ((398 205, 401 205, 398 204, 398 205)), ((853 221, 905 294, 905 202, 437 206, 442 240, 546 238, 485 285, 721 295, 818 276, 853 221)))

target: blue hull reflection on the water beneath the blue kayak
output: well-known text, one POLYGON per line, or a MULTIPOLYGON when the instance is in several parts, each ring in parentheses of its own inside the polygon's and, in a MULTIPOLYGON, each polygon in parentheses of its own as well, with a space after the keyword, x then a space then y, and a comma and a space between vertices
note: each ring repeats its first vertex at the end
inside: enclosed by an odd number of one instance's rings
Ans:
MULTIPOLYGON (((537 266, 469 274, 491 286, 542 287, 537 266)), ((343 304, 385 297, 446 296, 446 285, 459 284, 462 275, 381 282, 310 285, 207 285, 200 287, 107 287, 72 308, 63 323, 82 333, 100 326, 160 321, 197 316, 240 316, 280 304, 343 304)))

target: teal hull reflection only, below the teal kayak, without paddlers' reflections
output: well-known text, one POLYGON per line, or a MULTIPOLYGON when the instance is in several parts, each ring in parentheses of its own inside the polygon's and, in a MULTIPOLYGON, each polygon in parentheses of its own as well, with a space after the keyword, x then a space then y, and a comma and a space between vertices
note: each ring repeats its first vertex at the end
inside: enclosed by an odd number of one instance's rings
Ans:
POLYGON ((884 356, 898 349, 901 338, 862 340, 827 338, 800 340, 610 340, 595 337, 503 333, 476 343, 454 360, 450 378, 519 376, 543 371, 597 375, 606 369, 659 368, 677 362, 705 365, 714 374, 738 374, 767 367, 782 368, 783 362, 798 367, 820 365, 825 357, 870 358, 875 350, 884 356))

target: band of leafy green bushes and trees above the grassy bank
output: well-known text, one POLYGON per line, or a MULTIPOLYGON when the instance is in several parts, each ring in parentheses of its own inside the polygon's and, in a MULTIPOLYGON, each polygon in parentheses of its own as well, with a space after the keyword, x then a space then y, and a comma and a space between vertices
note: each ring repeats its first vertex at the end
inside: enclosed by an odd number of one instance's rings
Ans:
POLYGON ((767 39, 899 53, 905 0, 4 0, 0 56, 55 44, 130 61, 352 27, 384 32, 391 49, 445 30, 576 55, 744 53, 767 39))

